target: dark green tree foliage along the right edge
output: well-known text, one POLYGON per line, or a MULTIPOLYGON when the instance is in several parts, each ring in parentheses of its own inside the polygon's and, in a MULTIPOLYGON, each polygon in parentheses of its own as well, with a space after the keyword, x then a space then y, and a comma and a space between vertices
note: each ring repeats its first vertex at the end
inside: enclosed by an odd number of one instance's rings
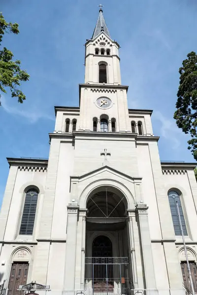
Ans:
POLYGON ((190 52, 179 69, 180 82, 177 92, 176 124, 183 132, 190 133, 188 141, 192 154, 197 160, 197 54, 190 52))

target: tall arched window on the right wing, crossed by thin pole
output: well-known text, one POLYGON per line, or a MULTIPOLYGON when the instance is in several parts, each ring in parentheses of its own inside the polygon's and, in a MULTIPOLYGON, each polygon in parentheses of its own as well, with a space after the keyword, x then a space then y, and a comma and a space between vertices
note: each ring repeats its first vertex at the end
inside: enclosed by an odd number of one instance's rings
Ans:
POLYGON ((169 206, 170 206, 170 210, 171 210, 171 215, 172 215, 172 221, 173 221, 173 226, 174 226, 174 232, 175 232, 175 236, 181 236, 181 228, 180 228, 180 224, 179 224, 179 218, 178 218, 178 210, 177 210, 177 205, 176 205, 176 201, 178 202, 178 207, 179 207, 179 212, 180 212, 180 216, 181 216, 181 225, 183 228, 183 233, 184 236, 187 236, 187 228, 186 228, 186 224, 185 224, 185 218, 183 215, 183 209, 181 206, 181 200, 180 200, 180 196, 176 191, 170 191, 168 193, 168 200, 169 200, 169 206))

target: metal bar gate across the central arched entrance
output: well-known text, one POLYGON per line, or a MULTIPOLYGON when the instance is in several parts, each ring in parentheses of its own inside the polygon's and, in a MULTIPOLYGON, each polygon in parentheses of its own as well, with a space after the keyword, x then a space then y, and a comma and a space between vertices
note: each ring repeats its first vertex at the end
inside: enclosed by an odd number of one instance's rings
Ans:
POLYGON ((128 257, 86 257, 86 294, 130 294, 128 257))

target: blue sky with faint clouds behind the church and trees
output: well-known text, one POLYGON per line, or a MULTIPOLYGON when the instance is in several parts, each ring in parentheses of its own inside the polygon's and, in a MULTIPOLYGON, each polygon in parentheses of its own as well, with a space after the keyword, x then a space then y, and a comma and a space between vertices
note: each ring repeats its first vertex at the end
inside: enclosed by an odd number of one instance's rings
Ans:
MULTIPOLYGON (((48 157, 54 105, 78 106, 84 83, 84 46, 99 15, 98 0, 1 0, 7 21, 20 34, 7 34, 10 49, 31 75, 21 86, 21 105, 3 95, 0 107, 0 203, 9 167, 6 157, 48 157)), ((120 46, 122 84, 129 108, 153 109, 154 134, 161 136, 161 160, 193 161, 188 137, 173 113, 178 69, 197 51, 196 0, 102 0, 110 35, 120 46)))

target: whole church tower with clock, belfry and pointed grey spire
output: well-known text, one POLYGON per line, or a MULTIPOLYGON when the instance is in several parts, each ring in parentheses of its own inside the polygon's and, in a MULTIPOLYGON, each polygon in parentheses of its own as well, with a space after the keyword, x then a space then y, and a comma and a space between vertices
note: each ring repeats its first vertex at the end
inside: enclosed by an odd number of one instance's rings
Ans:
POLYGON ((119 44, 112 40, 99 5, 99 18, 85 44, 85 83, 80 90, 79 130, 131 132, 128 86, 121 84, 119 44))

